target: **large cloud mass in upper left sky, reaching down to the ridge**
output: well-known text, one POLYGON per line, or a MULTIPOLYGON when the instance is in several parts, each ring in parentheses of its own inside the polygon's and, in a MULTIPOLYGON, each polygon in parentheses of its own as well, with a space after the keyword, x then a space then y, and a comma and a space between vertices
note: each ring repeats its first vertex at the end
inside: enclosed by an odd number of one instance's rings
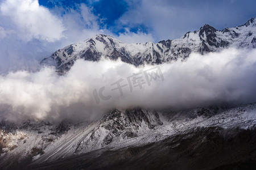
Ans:
POLYGON ((44 57, 101 31, 92 9, 55 7, 51 11, 37 0, 6 0, 0 3, 0 73, 36 70, 44 57))

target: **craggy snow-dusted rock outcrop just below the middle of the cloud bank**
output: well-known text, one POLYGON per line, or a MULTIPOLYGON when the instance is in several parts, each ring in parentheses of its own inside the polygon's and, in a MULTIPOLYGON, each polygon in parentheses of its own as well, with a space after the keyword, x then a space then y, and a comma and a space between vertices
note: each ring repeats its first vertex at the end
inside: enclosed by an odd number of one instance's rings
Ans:
POLYGON ((138 137, 139 132, 163 125, 158 113, 146 109, 127 109, 106 114, 86 137, 79 143, 76 152, 92 150, 138 137))

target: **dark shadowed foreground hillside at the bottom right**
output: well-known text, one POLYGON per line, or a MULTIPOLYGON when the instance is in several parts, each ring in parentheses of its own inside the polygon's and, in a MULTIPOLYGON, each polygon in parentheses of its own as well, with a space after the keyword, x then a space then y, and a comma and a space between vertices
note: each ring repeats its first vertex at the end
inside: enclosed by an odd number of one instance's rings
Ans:
MULTIPOLYGON (((39 165, 40 169, 255 169, 256 130, 192 128, 162 141, 39 165), (96 156, 97 155, 97 156, 96 156), (82 160, 82 161, 81 161, 82 160)), ((34 169, 39 168, 34 165, 34 169)), ((33 168, 32 168, 33 169, 33 168)))

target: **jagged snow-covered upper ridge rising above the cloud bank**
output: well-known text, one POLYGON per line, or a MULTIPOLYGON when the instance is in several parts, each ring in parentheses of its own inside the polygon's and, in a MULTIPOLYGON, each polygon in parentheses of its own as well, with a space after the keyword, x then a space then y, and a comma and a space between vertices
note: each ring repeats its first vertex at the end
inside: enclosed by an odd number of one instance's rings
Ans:
POLYGON ((88 61, 121 58, 123 62, 138 66, 184 59, 192 52, 205 54, 229 47, 256 48, 256 18, 222 31, 205 24, 198 31, 185 33, 180 39, 157 43, 126 44, 111 36, 97 35, 57 50, 52 56, 44 58, 42 64, 55 65, 60 73, 65 73, 78 58, 88 61))

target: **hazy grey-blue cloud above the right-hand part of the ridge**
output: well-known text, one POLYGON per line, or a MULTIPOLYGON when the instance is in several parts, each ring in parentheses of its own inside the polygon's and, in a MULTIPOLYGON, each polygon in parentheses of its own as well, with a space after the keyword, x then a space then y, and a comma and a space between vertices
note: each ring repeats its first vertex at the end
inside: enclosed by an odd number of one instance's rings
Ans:
POLYGON ((243 5, 237 2, 241 1, 127 1, 127 11, 115 23, 116 27, 149 28, 156 41, 173 40, 188 31, 200 29, 204 24, 224 29, 255 17, 252 7, 255 1, 244 1, 243 5))

